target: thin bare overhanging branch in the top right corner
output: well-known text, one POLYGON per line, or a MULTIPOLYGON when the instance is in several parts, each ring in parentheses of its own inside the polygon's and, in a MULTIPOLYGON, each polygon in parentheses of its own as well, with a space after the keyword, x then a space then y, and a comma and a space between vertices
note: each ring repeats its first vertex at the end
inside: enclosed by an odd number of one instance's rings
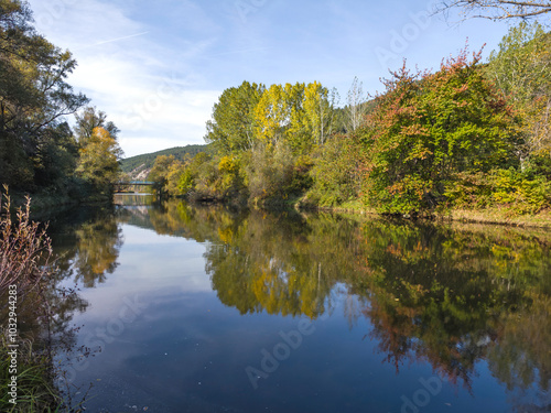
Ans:
POLYGON ((460 9, 462 14, 490 20, 530 19, 551 11, 551 1, 544 0, 449 0, 436 6, 437 12, 460 9))

